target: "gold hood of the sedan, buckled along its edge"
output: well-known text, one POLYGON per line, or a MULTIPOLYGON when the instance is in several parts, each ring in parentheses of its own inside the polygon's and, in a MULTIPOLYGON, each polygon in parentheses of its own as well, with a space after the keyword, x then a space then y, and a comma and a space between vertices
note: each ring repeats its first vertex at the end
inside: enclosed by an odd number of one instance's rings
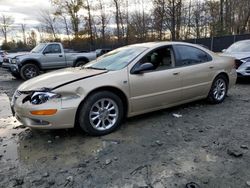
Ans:
POLYGON ((97 76, 108 72, 107 70, 81 69, 81 68, 67 68, 41 76, 32 78, 18 87, 19 91, 38 91, 47 89, 59 88, 63 85, 72 82, 97 76))

